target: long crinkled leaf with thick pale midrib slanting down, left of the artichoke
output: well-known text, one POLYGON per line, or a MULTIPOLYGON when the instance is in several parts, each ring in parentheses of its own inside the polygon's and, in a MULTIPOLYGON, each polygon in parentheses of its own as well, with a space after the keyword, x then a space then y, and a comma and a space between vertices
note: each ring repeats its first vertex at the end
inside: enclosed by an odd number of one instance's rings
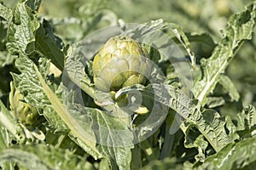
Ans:
POLYGON ((95 143, 86 139, 86 133, 77 131, 75 124, 72 123, 70 117, 67 117, 67 109, 61 104, 60 99, 61 86, 55 87, 52 82, 47 81, 49 85, 44 82, 48 80, 49 60, 41 58, 39 59, 39 64, 38 68, 26 56, 20 56, 16 59, 16 67, 21 71, 21 74, 13 74, 15 86, 20 89, 20 93, 24 96, 26 103, 43 110, 41 114, 47 119, 50 127, 54 127, 55 131, 65 133, 71 130, 74 141, 82 145, 81 147, 92 156, 98 157, 100 154, 95 148, 95 143), (78 138, 80 139, 79 141, 77 140, 78 138))

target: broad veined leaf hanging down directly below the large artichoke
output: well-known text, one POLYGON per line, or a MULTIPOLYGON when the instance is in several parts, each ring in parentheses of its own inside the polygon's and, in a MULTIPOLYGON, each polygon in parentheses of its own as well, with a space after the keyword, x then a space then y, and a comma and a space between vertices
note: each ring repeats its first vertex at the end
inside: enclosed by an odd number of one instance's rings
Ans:
POLYGON ((94 116, 100 127, 97 136, 102 144, 99 145, 99 150, 110 157, 113 169, 114 167, 130 169, 131 149, 134 145, 133 133, 123 122, 114 119, 106 112, 98 111, 94 116))

